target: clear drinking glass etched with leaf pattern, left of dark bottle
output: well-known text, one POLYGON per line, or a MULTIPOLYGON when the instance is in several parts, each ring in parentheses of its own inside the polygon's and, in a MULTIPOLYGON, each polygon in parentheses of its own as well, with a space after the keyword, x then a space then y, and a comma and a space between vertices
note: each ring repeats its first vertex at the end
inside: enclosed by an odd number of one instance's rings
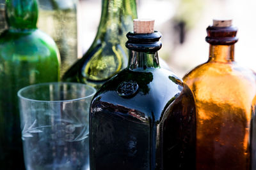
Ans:
POLYGON ((89 169, 89 108, 96 90, 41 83, 19 90, 26 169, 89 169))

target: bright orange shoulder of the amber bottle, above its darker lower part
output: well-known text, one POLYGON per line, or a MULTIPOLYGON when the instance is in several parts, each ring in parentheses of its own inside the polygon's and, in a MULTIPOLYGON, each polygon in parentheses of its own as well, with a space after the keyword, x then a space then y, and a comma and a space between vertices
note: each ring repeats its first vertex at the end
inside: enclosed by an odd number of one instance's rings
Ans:
POLYGON ((208 103, 244 108, 256 97, 255 73, 236 62, 202 64, 186 74, 184 81, 200 106, 208 103))

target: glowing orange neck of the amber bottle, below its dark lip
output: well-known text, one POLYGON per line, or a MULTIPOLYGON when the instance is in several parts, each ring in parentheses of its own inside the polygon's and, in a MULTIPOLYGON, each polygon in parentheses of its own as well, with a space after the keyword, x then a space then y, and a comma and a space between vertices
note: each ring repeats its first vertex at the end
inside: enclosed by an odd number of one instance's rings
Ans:
POLYGON ((233 45, 210 45, 209 61, 232 62, 234 61, 233 45))

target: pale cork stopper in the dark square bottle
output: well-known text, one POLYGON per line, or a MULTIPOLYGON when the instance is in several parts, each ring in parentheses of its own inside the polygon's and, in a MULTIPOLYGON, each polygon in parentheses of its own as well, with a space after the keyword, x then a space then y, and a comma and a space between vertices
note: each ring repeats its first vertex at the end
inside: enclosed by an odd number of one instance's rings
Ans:
POLYGON ((136 34, 150 34, 154 32, 155 20, 135 19, 133 20, 133 29, 136 34))

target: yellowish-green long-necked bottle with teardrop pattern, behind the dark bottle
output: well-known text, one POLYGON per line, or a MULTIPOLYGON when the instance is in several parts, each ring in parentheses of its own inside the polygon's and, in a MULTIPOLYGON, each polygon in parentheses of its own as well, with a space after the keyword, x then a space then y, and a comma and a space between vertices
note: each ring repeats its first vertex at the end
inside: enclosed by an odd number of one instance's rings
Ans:
POLYGON ((92 46, 63 76, 63 81, 88 83, 98 89, 127 66, 125 34, 137 17, 136 0, 102 0, 99 29, 92 46))

